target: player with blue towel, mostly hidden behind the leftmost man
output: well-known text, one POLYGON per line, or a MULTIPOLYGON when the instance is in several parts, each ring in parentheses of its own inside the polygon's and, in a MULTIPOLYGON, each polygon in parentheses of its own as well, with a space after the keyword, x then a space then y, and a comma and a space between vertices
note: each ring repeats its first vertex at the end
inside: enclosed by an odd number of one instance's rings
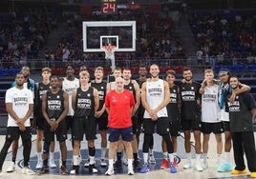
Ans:
MULTIPOLYGON (((24 66, 21 68, 21 72, 24 74, 24 78, 25 78, 24 88, 32 90, 33 99, 34 99, 34 91, 36 89, 36 86, 34 81, 30 78, 31 70, 29 67, 24 66)), ((16 87, 15 81, 12 83, 11 87, 16 87)), ((34 108, 33 110, 36 110, 35 106, 33 106, 33 108, 34 108)), ((32 127, 34 127, 35 120, 33 120, 33 114, 31 116, 31 120, 32 120, 32 127)), ((11 166, 7 169, 7 172, 12 172, 15 169, 16 156, 17 156, 17 151, 19 146, 18 142, 19 140, 14 140, 12 142, 12 159, 11 159, 12 162, 11 162, 11 166)))

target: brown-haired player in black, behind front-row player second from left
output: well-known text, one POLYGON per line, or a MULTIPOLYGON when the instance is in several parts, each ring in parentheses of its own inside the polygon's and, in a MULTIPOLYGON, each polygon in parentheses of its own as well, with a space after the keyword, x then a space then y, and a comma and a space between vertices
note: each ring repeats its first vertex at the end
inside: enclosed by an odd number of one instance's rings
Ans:
MULTIPOLYGON (((42 113, 42 96, 43 94, 50 89, 50 77, 52 70, 49 68, 42 69, 43 81, 36 84, 37 88, 35 90, 35 101, 36 101, 36 110, 34 111, 35 121, 36 121, 36 155, 37 155, 37 164, 36 169, 42 169, 43 159, 42 159, 42 140, 44 137, 44 127, 46 120, 44 119, 42 113)), ((50 145, 50 168, 56 168, 53 158, 54 152, 54 141, 50 145)))

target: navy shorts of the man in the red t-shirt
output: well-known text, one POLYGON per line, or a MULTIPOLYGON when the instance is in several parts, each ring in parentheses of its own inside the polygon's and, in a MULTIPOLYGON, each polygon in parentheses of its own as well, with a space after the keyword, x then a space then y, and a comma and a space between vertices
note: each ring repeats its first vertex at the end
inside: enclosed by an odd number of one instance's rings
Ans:
POLYGON ((119 137, 121 136, 121 139, 126 142, 131 142, 133 140, 133 128, 109 128, 109 142, 117 142, 119 140, 119 137))

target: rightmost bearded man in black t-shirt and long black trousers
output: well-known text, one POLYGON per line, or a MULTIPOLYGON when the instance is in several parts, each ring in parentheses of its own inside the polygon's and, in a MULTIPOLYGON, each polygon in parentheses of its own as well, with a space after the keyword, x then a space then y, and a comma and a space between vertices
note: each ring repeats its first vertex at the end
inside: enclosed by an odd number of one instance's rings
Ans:
POLYGON ((256 104, 252 95, 248 92, 240 93, 240 81, 238 77, 229 79, 232 91, 238 94, 234 102, 230 102, 231 94, 224 99, 225 109, 229 112, 230 132, 233 141, 234 159, 236 167, 231 174, 245 174, 244 153, 249 169, 250 177, 256 178, 256 150, 253 134, 253 124, 256 119, 256 104))

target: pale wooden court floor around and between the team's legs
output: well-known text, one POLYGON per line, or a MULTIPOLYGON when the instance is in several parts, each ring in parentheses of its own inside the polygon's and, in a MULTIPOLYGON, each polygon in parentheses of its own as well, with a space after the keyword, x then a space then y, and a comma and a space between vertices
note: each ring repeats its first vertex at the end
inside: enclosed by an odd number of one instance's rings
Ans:
MULTIPOLYGON (((256 137, 256 132, 254 132, 255 137, 256 137)), ((182 134, 181 134, 182 135, 182 134)), ((97 137, 99 138, 99 137, 97 137)), ((234 176, 231 175, 230 172, 217 172, 216 169, 216 160, 215 160, 215 156, 216 156, 216 142, 215 142, 215 137, 213 135, 211 135, 210 138, 210 144, 209 144, 209 153, 208 153, 208 165, 209 168, 208 169, 204 169, 202 172, 197 171, 196 169, 192 168, 192 169, 182 169, 182 166, 185 164, 186 160, 185 158, 185 153, 184 153, 184 149, 183 149, 183 138, 182 136, 179 137, 179 149, 178 149, 178 154, 181 156, 181 163, 179 164, 179 168, 178 168, 178 172, 173 174, 169 172, 169 169, 160 169, 160 163, 161 163, 161 148, 160 148, 160 136, 158 134, 154 134, 154 138, 155 138, 155 157, 157 159, 157 164, 155 166, 151 166, 151 169, 149 172, 145 173, 145 174, 141 174, 139 173, 139 171, 136 172, 135 175, 133 176, 128 176, 125 173, 123 173, 122 171, 115 173, 115 175, 110 176, 110 178, 113 179, 139 179, 139 178, 145 178, 145 179, 170 179, 170 178, 179 178, 179 179, 205 179, 205 178, 250 178, 249 177, 249 172, 245 175, 240 175, 240 176, 234 176)), ((5 136, 4 135, 0 135, 0 147, 2 148, 2 145, 4 144, 5 141, 5 136)), ((36 155, 35 155, 35 135, 32 136, 32 154, 31 154, 31 168, 35 170, 35 165, 36 165, 36 155)), ((140 136, 140 141, 142 141, 142 136, 140 136)), ((99 139, 96 140, 96 156, 99 155, 99 139)), ((193 138, 191 139, 191 144, 193 146, 193 138)), ((21 144, 21 142, 20 142, 21 144)), ((68 161, 67 161, 67 166, 68 169, 71 168, 71 156, 72 156, 72 148, 71 148, 71 142, 69 140, 67 140, 67 146, 68 146, 68 161)), ((24 175, 21 173, 21 169, 17 166, 15 171, 12 173, 7 173, 6 169, 9 167, 10 163, 11 163, 11 152, 8 154, 4 167, 3 167, 3 172, 2 172, 2 176, 0 178, 11 178, 11 179, 32 179, 32 178, 45 178, 47 177, 48 179, 55 179, 55 178, 68 178, 68 177, 72 177, 72 178, 103 178, 106 177, 104 176, 104 171, 105 169, 101 169, 99 165, 96 165, 96 168, 99 170, 99 174, 94 174, 94 175, 90 175, 86 172, 86 169, 83 168, 83 163, 85 161, 85 158, 88 151, 87 148, 85 147, 86 143, 83 142, 82 143, 82 156, 83 156, 83 162, 81 164, 81 173, 79 175, 68 175, 68 176, 63 176, 60 175, 58 172, 58 169, 51 169, 50 174, 46 174, 43 176, 38 176, 38 175, 24 175)), ((18 150, 18 156, 17 156, 17 163, 21 164, 22 163, 22 146, 19 148, 18 150)), ((192 149, 192 153, 194 156, 194 149, 192 149)), ((54 154, 54 158, 55 158, 55 163, 58 164, 58 157, 59 157, 59 148, 58 148, 58 144, 56 143, 55 146, 55 154, 54 154)), ((142 158, 142 154, 141 154, 141 143, 139 145, 139 157, 140 159, 142 158)), ((231 153, 231 158, 232 158, 232 163, 233 163, 233 155, 231 153)), ((194 162, 195 159, 193 159, 194 162)), ((142 159, 140 160, 142 162, 142 159)), ((96 164, 98 164, 99 161, 96 161, 96 164)), ((17 165, 18 165, 17 164, 17 165)), ((233 163, 234 164, 234 163, 233 163)))

